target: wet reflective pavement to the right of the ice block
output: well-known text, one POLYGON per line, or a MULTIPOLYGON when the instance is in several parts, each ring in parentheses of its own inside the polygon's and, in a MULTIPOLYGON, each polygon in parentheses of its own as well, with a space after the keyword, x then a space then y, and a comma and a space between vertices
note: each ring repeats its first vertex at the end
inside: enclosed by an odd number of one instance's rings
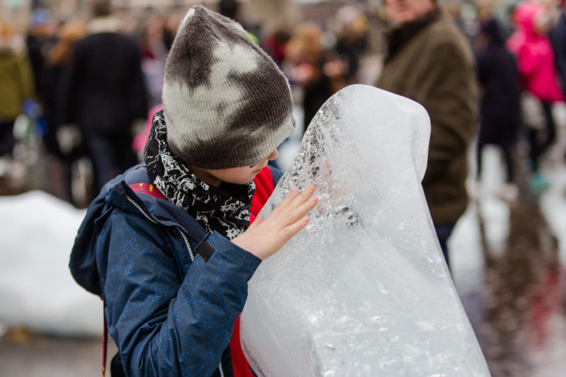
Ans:
POLYGON ((566 376, 566 165, 546 168, 551 189, 542 195, 517 170, 515 202, 499 199, 491 182, 458 224, 454 281, 492 376, 566 376))

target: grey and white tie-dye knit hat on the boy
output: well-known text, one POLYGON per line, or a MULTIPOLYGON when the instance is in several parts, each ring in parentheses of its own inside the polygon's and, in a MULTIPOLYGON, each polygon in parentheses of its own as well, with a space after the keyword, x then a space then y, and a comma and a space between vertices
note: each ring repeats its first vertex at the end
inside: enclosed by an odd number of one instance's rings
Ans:
POLYGON ((165 66, 167 142, 185 164, 253 166, 294 130, 289 83, 238 23, 193 6, 165 66))

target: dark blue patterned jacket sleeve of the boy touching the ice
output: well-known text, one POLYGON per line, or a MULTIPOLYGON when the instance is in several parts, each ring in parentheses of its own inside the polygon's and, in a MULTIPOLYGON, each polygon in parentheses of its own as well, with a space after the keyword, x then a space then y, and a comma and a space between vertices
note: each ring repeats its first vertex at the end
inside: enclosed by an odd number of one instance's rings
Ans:
POLYGON ((183 276, 170 251, 188 253, 183 238, 150 225, 120 214, 100 227, 105 241, 98 250, 108 251, 97 259, 110 335, 128 376, 211 376, 260 260, 212 233, 212 257, 205 262, 195 254, 183 276))

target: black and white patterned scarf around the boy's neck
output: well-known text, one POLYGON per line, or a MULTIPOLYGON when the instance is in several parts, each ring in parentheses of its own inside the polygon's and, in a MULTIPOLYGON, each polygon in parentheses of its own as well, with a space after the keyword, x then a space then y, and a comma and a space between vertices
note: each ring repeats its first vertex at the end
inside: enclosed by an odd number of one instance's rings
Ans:
POLYGON ((223 182, 216 188, 198 179, 169 150, 163 111, 154 116, 144 160, 149 179, 159 191, 197 219, 206 231, 217 231, 231 240, 248 228, 254 182, 223 182))

